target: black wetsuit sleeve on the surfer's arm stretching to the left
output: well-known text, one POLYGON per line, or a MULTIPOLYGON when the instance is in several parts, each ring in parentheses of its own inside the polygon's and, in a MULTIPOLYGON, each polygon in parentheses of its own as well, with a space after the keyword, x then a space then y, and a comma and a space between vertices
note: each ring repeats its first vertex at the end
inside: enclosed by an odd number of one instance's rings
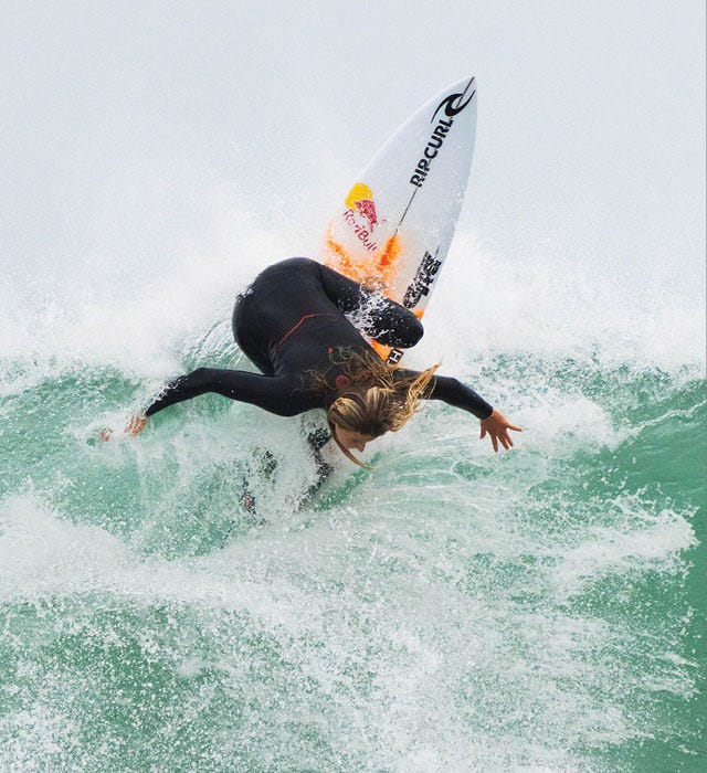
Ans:
POLYGON ((295 416, 317 407, 310 404, 313 401, 309 393, 296 389, 292 379, 261 375, 242 370, 199 368, 170 382, 145 414, 151 416, 169 405, 207 392, 215 392, 231 400, 257 405, 278 416, 295 416))

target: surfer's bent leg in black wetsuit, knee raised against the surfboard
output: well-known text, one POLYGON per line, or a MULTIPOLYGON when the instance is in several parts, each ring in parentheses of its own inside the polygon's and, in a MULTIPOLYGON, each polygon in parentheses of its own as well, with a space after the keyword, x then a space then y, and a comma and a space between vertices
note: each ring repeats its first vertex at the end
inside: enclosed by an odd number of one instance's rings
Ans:
POLYGON ((321 286, 333 304, 346 314, 360 311, 356 327, 387 347, 410 349, 423 333, 422 322, 404 306, 324 265, 318 265, 321 286))

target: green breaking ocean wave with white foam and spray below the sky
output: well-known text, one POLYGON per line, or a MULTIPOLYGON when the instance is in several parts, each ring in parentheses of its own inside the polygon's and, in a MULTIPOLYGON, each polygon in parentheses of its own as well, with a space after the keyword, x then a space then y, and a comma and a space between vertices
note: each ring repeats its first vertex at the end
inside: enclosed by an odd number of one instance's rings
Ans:
POLYGON ((510 453, 431 403, 306 499, 299 420, 215 395, 99 442, 169 373, 247 367, 257 260, 7 306, 0 770, 704 770, 699 293, 560 303, 571 262, 462 226, 408 357, 521 424, 510 453), (507 310, 469 313, 489 265, 507 310))

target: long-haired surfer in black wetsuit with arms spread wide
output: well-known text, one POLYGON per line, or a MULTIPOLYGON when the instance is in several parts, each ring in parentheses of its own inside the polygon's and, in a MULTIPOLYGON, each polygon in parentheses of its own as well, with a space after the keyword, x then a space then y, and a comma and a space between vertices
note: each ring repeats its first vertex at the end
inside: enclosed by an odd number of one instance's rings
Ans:
MULTIPOLYGON (((293 257, 266 268, 233 310, 233 335, 261 373, 199 368, 171 381, 144 414, 127 426, 143 431, 147 419, 169 405, 215 392, 294 416, 324 409, 334 441, 354 463, 351 449, 395 432, 420 400, 442 400, 481 420, 495 452, 513 446, 521 432, 476 392, 454 378, 386 364, 362 338, 401 349, 422 338, 412 311, 316 261, 293 257), (345 315, 350 315, 354 321, 345 315)), ((365 466, 365 465, 362 465, 365 466)))

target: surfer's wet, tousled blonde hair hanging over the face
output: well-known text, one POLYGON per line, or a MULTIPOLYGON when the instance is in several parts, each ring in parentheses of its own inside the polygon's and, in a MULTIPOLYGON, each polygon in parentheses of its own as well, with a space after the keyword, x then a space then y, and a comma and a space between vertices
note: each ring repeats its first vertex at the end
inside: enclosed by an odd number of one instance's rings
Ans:
MULTIPOLYGON (((359 467, 371 468, 357 459, 336 436, 335 424, 349 432, 379 437, 398 432, 419 410, 419 402, 430 391, 439 363, 421 373, 395 378, 398 364, 389 366, 372 352, 341 352, 336 362, 348 383, 327 411, 331 437, 341 453, 359 467)), ((320 380, 319 380, 320 381, 320 380)))

